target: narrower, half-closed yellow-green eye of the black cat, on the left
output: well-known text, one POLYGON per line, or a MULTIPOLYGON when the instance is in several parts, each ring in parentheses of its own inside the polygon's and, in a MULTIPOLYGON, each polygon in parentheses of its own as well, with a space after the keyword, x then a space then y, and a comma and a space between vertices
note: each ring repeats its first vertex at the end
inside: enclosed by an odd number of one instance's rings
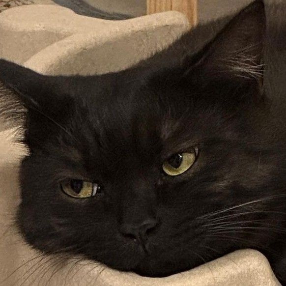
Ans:
POLYGON ((76 179, 61 183, 61 188, 67 195, 79 199, 94 197, 100 192, 98 184, 76 179))

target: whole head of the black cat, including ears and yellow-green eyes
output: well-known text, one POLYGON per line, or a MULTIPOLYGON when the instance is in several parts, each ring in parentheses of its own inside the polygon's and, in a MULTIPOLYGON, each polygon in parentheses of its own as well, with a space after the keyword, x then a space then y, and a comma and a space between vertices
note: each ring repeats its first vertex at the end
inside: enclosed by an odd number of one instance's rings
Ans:
POLYGON ((260 199, 279 196, 269 194, 264 29, 256 1, 180 62, 49 77, 0 61, 27 109, 26 240, 148 276, 267 245, 264 230, 234 228, 271 219, 272 200, 260 199))

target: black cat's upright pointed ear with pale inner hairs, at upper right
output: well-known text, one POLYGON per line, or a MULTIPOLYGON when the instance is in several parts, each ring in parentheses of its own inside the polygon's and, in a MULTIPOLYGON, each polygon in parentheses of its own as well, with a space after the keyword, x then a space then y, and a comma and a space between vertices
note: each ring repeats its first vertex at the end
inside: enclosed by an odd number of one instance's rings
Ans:
POLYGON ((197 62, 205 75, 261 81, 266 19, 256 0, 239 12, 205 47, 197 62))

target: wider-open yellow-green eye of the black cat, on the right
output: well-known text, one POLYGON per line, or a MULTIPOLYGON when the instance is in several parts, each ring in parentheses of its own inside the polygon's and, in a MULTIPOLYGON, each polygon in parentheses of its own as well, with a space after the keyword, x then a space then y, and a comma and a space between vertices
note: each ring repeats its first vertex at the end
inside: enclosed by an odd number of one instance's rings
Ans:
POLYGON ((196 161, 197 152, 184 152, 172 155, 163 163, 163 171, 170 176, 177 176, 189 170, 196 161))

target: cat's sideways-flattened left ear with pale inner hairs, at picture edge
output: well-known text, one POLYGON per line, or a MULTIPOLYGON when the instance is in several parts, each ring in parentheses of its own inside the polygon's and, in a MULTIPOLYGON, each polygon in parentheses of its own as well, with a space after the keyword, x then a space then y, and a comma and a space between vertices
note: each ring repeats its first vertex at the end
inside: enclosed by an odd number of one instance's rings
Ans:
POLYGON ((54 130, 68 111, 73 82, 70 77, 45 76, 0 59, 1 121, 43 138, 47 133, 42 136, 42 130, 54 130))

